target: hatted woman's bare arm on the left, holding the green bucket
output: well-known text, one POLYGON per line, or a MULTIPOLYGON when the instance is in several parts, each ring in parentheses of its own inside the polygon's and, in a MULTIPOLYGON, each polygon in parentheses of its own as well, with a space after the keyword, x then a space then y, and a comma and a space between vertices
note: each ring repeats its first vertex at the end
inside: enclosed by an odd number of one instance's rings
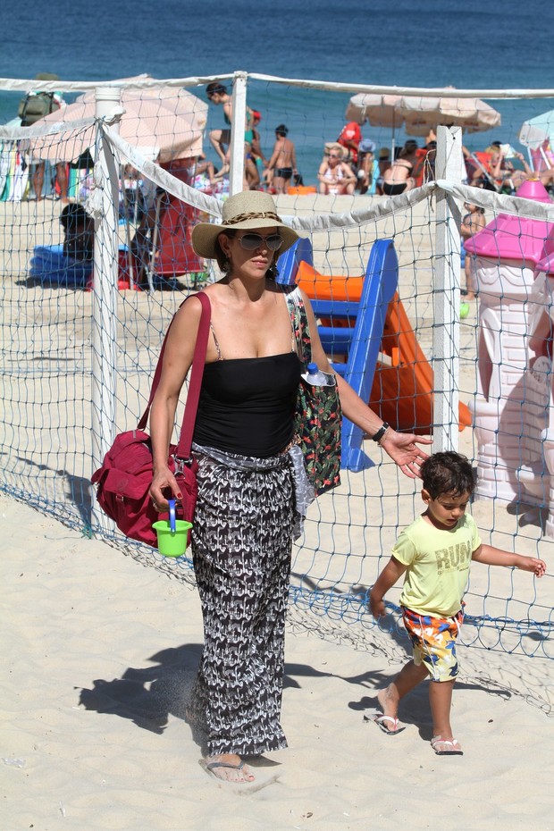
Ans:
POLYGON ((201 313, 202 306, 197 298, 190 298, 177 312, 165 345, 162 376, 150 410, 154 465, 150 496, 161 509, 167 508, 164 490, 171 490, 175 499, 181 497, 167 460, 175 411, 179 403, 180 390, 192 364, 201 313))

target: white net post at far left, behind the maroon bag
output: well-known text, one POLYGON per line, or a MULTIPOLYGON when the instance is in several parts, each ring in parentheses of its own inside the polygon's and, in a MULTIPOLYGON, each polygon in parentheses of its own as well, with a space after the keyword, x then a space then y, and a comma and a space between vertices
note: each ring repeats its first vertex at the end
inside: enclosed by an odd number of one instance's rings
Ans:
MULTIPOLYGON (((110 116, 120 105, 119 88, 98 88, 96 114, 110 116)), ((95 218, 92 321, 92 469, 102 463, 115 438, 117 300, 119 251, 119 175, 113 148, 104 133, 97 144, 95 181, 101 206, 95 218)), ((112 526, 92 501, 92 527, 112 526)))

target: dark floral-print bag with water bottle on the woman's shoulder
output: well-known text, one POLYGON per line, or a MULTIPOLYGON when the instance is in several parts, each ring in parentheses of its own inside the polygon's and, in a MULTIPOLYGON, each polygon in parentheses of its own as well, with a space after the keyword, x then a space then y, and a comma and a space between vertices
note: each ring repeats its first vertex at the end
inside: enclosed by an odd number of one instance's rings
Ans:
MULTIPOLYGON (((298 357, 305 366, 312 361, 306 308, 298 286, 287 294, 298 357)), ((340 485, 340 430, 342 410, 334 375, 326 374, 328 386, 315 386, 300 379, 294 416, 295 436, 304 455, 309 481, 321 496, 340 485)))

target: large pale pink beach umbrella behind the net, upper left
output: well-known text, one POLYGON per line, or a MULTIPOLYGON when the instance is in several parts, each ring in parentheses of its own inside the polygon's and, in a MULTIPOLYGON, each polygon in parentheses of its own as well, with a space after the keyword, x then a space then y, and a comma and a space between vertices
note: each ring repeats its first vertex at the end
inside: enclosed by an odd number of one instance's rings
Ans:
MULTIPOLYGON (((207 104, 183 88, 165 85, 150 88, 123 88, 121 104, 125 113, 120 135, 139 147, 147 159, 160 164, 172 159, 192 158, 202 153, 207 104)), ((50 113, 36 122, 74 122, 95 115, 95 93, 80 96, 74 104, 50 113)), ((95 128, 29 139, 24 148, 33 159, 74 162, 94 145, 95 128)))

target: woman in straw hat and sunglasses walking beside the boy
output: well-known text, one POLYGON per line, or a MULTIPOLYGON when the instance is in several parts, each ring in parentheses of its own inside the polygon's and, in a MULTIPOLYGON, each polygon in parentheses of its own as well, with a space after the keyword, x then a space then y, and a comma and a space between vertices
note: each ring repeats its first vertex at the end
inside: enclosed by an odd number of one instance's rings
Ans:
MULTIPOLYGON (((274 263, 298 234, 281 222, 273 198, 245 191, 222 208, 222 224, 192 232, 198 256, 217 259, 224 276, 206 288, 212 335, 195 425, 199 465, 192 548, 202 601, 205 645, 189 718, 206 730, 206 768, 220 779, 251 782, 241 757, 286 747, 280 725, 285 613, 295 491, 293 414, 302 365, 296 354, 285 292, 274 263)), ((303 295, 312 355, 332 372, 303 295)), ((175 407, 189 371, 200 321, 197 298, 181 306, 167 341, 151 414, 154 480, 159 511, 164 492, 179 499, 167 456, 175 407)), ((339 376, 345 416, 414 478, 426 454, 413 435, 382 430, 382 420, 339 376)), ((304 474, 305 475, 305 474, 304 474)))

